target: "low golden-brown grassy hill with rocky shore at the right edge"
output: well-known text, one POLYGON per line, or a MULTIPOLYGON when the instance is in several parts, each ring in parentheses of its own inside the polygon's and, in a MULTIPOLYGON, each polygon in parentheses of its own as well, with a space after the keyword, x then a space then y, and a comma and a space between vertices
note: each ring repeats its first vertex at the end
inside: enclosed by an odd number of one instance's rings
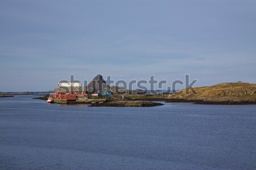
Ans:
POLYGON ((220 83, 209 87, 186 88, 169 95, 172 101, 202 104, 256 104, 256 84, 220 83))

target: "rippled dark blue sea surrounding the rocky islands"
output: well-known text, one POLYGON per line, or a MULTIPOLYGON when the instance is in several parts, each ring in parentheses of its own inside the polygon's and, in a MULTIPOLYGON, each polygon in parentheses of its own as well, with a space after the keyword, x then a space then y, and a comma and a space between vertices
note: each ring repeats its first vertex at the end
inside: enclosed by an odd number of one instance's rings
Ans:
POLYGON ((0 98, 0 169, 256 169, 256 105, 0 98))

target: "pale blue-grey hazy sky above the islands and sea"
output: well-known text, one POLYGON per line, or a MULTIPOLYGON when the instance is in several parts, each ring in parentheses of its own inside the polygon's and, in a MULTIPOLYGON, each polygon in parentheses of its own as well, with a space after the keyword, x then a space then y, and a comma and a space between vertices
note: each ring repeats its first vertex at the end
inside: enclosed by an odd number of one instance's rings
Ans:
POLYGON ((60 80, 256 83, 256 1, 0 1, 0 91, 60 80))

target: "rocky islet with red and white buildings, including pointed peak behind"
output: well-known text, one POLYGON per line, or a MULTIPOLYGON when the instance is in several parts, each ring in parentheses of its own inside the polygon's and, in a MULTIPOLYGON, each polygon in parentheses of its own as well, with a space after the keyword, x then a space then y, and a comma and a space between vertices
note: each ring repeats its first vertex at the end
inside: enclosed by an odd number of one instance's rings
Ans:
POLYGON ((57 104, 91 104, 93 107, 153 107, 163 105, 152 101, 131 100, 123 94, 120 95, 118 92, 123 89, 108 86, 100 74, 95 76, 88 86, 78 88, 77 84, 79 83, 81 82, 59 82, 56 92, 34 99, 47 100, 47 103, 57 104), (67 91, 63 91, 69 86, 67 91), (71 89, 71 87, 73 88, 71 89))

